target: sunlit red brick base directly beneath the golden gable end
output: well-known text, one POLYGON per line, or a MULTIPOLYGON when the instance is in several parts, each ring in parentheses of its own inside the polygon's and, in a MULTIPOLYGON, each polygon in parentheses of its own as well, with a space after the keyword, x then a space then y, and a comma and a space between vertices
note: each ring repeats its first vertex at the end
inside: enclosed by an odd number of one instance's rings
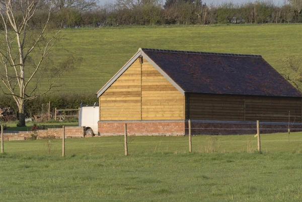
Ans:
POLYGON ((128 136, 183 136, 185 121, 99 121, 100 136, 123 136, 124 125, 127 123, 128 136))

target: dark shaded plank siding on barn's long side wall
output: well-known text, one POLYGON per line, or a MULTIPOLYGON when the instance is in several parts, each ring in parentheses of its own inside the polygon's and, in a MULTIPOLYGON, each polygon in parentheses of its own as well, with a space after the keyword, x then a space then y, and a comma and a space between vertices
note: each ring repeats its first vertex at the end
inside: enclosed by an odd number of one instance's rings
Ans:
POLYGON ((265 122, 302 122, 300 98, 190 94, 189 118, 265 122))

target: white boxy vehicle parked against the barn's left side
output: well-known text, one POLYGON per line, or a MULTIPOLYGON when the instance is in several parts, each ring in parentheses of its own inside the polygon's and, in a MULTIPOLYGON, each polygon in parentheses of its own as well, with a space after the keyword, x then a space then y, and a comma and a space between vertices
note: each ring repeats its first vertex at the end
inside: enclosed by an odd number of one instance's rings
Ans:
POLYGON ((95 134, 98 134, 98 121, 99 106, 97 103, 94 105, 80 106, 79 126, 86 127, 86 135, 94 136, 95 134))

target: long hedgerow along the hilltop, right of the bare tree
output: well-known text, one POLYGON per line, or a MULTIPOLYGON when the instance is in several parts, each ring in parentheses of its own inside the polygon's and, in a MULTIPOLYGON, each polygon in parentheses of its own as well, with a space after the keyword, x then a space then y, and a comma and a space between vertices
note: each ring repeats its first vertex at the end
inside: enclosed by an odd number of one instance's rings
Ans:
MULTIPOLYGON (((38 16, 29 23, 41 25, 46 19, 46 13, 39 11, 38 16)), ((131 6, 109 4, 89 11, 77 7, 65 8, 51 15, 50 27, 301 22, 301 10, 293 4, 275 5, 269 1, 256 1, 208 6, 201 0, 168 0, 165 5, 160 5, 158 1, 147 1, 131 6)))

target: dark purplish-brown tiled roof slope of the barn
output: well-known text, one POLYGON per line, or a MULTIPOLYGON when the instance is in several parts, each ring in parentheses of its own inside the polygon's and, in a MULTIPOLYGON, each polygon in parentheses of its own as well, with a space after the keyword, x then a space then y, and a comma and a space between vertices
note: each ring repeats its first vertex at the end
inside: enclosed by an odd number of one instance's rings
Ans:
POLYGON ((301 97, 261 55, 142 48, 188 93, 301 97))

